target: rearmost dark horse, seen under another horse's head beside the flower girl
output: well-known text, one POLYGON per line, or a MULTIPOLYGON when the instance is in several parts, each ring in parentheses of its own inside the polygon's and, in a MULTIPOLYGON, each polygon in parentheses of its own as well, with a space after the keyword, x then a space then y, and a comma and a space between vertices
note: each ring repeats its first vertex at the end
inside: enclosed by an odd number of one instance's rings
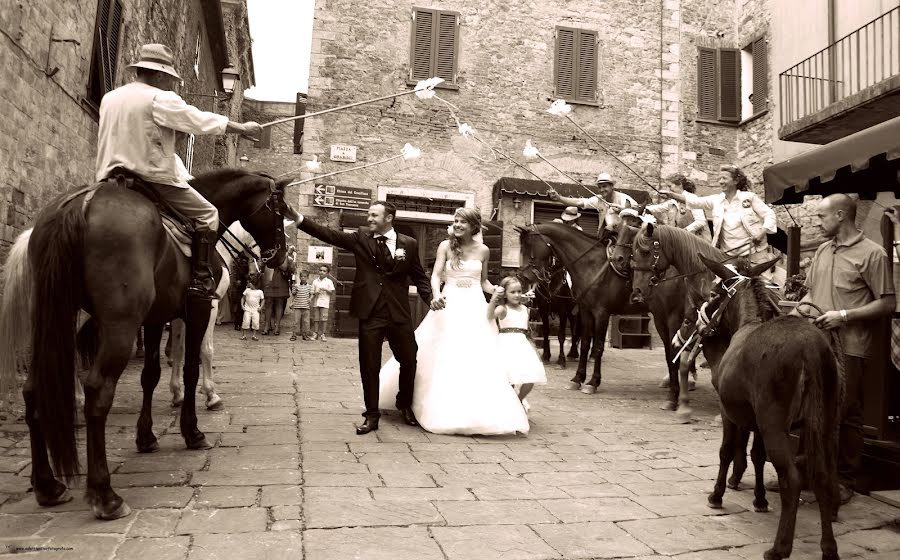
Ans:
POLYGON ((572 289, 566 283, 566 269, 554 258, 554 262, 551 263, 547 272, 548 276, 534 286, 534 307, 541 318, 541 336, 543 338, 541 357, 544 362, 550 361, 550 316, 556 315, 559 319, 557 329, 559 357, 556 359, 556 365, 560 369, 565 369, 566 327, 571 327, 572 331, 569 358, 578 357, 578 341, 581 339, 583 329, 572 289))

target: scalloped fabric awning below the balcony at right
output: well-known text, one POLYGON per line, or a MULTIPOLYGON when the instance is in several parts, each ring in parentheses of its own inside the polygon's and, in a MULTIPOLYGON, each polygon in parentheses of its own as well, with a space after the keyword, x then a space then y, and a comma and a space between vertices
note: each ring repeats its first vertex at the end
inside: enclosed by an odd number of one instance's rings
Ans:
POLYGON ((879 192, 900 196, 900 117, 767 167, 766 202, 799 204, 804 196, 879 192))

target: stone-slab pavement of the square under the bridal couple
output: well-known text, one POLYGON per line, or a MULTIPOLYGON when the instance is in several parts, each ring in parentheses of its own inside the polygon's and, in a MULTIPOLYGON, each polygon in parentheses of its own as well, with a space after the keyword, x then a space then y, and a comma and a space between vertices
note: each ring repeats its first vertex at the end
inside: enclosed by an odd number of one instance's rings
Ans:
MULTIPOLYGON (((139 363, 123 376, 107 433, 127 518, 97 521, 79 498, 38 507, 27 429, 0 426, 0 558, 737 560, 774 538, 777 495, 772 513, 754 513, 747 489, 707 508, 720 437, 709 372, 696 421, 676 424, 658 409, 660 350, 608 349, 596 395, 567 391, 572 369, 549 367, 527 437, 432 435, 396 415, 361 437, 355 340, 241 342, 230 326, 216 337, 225 409, 199 413, 213 449, 184 449, 163 382, 161 450, 138 454, 139 363)), ((900 556, 898 519, 854 498, 835 525, 842 558, 900 556)), ((818 534, 818 510, 802 505, 792 558, 819 558, 818 534)))

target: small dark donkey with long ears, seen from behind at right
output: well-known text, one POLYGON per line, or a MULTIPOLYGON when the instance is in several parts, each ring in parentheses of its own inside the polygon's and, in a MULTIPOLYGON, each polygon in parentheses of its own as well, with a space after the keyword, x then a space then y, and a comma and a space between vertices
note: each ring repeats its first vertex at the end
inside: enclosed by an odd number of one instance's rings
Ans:
MULTIPOLYGON (((774 264, 753 266, 747 276, 701 257, 722 279, 713 290, 709 314, 731 333, 731 343, 713 370, 722 407, 719 474, 709 505, 722 507, 728 465, 742 430, 754 433, 751 457, 756 471, 754 507, 766 511, 763 468, 766 455, 778 472, 781 517, 766 560, 791 555, 800 473, 794 463, 789 432, 803 426, 806 480, 819 504, 822 559, 838 558, 831 522, 837 512, 837 444, 843 379, 825 335, 800 317, 778 316, 759 274, 774 264)), ((715 320, 714 320, 715 322, 715 320)))

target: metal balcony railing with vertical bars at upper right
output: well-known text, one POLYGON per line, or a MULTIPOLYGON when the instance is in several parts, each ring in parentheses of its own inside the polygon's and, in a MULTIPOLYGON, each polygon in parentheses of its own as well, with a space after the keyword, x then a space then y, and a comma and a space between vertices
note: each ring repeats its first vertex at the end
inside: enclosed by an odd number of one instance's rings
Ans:
POLYGON ((900 6, 779 76, 781 123, 790 124, 900 74, 900 6))

